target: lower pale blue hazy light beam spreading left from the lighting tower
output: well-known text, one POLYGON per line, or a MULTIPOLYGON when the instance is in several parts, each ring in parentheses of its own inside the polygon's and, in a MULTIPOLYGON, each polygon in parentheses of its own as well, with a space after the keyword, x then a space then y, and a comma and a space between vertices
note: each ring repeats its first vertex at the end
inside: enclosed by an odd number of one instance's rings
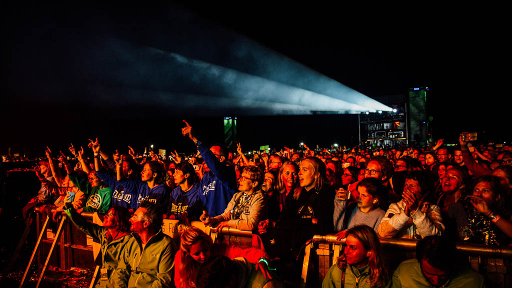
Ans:
MULTIPOLYGON (((236 111, 238 108, 250 115, 374 111, 345 100, 189 59, 176 53, 121 40, 104 40, 102 43, 101 51, 97 51, 97 54, 101 52, 104 55, 101 66, 106 65, 110 69, 99 69, 100 65, 90 65, 89 69, 94 70, 91 73, 101 83, 114 83, 118 88, 130 87, 138 91, 132 94, 122 92, 123 101, 130 101, 130 97, 139 95, 144 101, 162 105, 165 99, 161 95, 181 95, 182 98, 169 96, 167 101, 173 105, 180 103, 180 106, 186 101, 186 107, 203 109, 215 107, 236 111), (155 97, 155 91, 163 94, 155 97), (198 100, 198 97, 191 95, 217 97, 219 101, 216 104, 215 101, 198 100), (263 109, 265 105, 269 108, 263 109), (276 106, 275 109, 272 106, 276 106)), ((95 53, 89 50, 91 52, 95 53)))

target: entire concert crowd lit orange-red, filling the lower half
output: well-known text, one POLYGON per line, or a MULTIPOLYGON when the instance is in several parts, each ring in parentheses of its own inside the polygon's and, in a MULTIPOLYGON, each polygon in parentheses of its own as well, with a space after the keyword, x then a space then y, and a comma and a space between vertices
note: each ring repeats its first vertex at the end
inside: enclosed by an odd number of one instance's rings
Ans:
POLYGON ((24 215, 44 205, 96 238, 100 287, 280 287, 300 277, 313 235, 327 234, 346 239, 346 248, 324 287, 481 287, 482 276, 453 265, 454 243, 511 244, 512 147, 474 147, 461 137, 455 147, 439 140, 425 148, 304 145, 245 154, 240 144, 236 153, 207 146, 187 122, 181 133, 197 153, 111 155, 90 139, 92 161, 71 145, 74 164, 47 148, 36 169, 41 188, 24 215), (106 214, 102 227, 82 211, 106 214), (164 218, 186 227, 178 245, 162 233, 164 218), (251 231, 264 251, 229 253, 190 221, 251 231), (393 273, 379 237, 419 239, 416 259, 393 273), (270 263, 278 270, 269 272, 269 259, 279 259, 270 263))

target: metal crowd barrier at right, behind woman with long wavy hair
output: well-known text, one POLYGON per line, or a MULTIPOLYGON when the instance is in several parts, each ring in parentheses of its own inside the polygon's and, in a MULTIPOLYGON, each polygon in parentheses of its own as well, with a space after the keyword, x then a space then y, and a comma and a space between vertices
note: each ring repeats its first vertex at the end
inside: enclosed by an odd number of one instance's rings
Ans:
MULTIPOLYGON (((404 252, 404 255, 414 256, 416 243, 418 240, 399 239, 399 238, 380 238, 380 243, 385 253, 393 254, 393 257, 400 257, 392 253, 394 251, 404 252)), ((301 276, 301 288, 321 285, 329 268, 336 262, 342 251, 345 239, 336 240, 335 235, 315 235, 310 244, 306 246, 304 256, 303 270, 301 276), (312 255, 312 252, 316 252, 312 255), (314 262, 314 264, 313 264, 314 262), (311 268, 313 266, 313 269, 311 268), (317 273, 318 281, 308 283, 308 276, 312 272, 317 273)), ((483 274, 486 278, 488 287, 512 287, 512 247, 503 245, 482 245, 470 243, 457 243, 459 253, 468 256, 468 262, 471 267, 483 274)), ((411 257, 409 257, 411 258, 411 257)), ((403 259, 393 259, 403 261, 403 259)), ((388 257, 388 260, 389 257, 388 257)), ((315 275, 316 276, 316 275, 315 275)))

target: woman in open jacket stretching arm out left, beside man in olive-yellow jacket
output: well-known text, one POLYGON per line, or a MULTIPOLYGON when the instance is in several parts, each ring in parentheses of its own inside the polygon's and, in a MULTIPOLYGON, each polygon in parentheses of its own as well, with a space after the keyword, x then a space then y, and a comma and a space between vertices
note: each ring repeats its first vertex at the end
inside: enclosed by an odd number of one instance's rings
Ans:
POLYGON ((64 212, 83 233, 91 236, 101 244, 101 270, 97 288, 107 287, 112 282, 112 274, 117 268, 121 252, 132 238, 130 234, 130 212, 124 207, 112 207, 103 218, 103 227, 90 223, 67 202, 64 212))

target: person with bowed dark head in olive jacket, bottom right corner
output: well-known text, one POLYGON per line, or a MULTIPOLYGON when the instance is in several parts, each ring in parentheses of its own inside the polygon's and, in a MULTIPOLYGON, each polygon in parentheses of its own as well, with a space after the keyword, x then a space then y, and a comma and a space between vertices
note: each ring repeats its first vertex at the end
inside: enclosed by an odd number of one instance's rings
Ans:
POLYGON ((393 273, 392 288, 482 288, 484 277, 456 261, 455 242, 428 236, 416 244, 416 259, 403 261, 393 273))

